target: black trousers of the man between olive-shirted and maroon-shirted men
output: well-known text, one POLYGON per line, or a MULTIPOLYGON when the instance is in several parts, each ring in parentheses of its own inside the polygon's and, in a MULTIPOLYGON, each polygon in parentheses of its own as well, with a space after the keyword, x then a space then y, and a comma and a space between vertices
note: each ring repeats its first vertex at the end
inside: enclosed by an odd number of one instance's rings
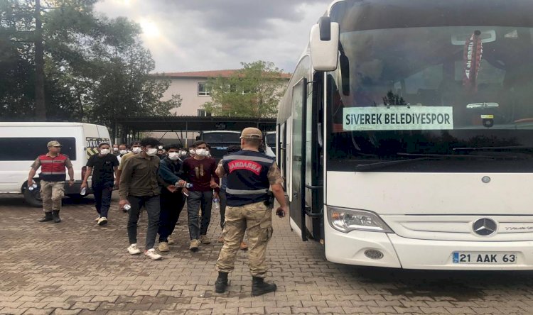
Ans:
POLYGON ((185 205, 185 196, 178 189, 175 193, 161 193, 161 213, 159 215, 159 242, 168 242, 168 236, 172 234, 176 223, 180 218, 181 211, 185 205))

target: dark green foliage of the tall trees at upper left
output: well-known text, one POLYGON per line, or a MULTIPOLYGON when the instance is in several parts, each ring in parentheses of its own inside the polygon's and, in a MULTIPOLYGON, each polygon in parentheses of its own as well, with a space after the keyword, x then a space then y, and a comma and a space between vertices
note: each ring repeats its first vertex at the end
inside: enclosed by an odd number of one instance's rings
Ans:
MULTIPOLYGON (((0 119, 35 116, 35 0, 0 0, 0 119)), ((151 76, 154 60, 139 25, 93 11, 96 0, 41 0, 45 105, 49 121, 102 123, 170 115, 179 95, 160 101, 171 81, 151 76)))

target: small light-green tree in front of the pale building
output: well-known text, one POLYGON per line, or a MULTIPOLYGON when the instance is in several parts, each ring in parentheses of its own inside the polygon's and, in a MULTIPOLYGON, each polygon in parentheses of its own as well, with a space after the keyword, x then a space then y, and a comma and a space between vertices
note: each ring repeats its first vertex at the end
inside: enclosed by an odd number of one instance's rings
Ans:
POLYGON ((286 79, 272 62, 245 63, 230 77, 208 79, 211 101, 203 105, 213 116, 275 117, 286 79))

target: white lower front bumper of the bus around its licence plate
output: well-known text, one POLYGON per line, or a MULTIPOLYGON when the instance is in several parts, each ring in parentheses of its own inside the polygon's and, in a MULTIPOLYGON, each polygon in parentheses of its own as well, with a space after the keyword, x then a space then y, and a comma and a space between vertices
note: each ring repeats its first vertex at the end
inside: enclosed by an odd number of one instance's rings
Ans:
POLYGON ((347 265, 394 267, 419 270, 533 270, 533 242, 465 242, 402 238, 393 233, 351 231, 342 233, 329 225, 325 257, 347 265), (365 255, 379 250, 381 259, 365 255), (454 252, 516 253, 515 264, 458 264, 454 252))

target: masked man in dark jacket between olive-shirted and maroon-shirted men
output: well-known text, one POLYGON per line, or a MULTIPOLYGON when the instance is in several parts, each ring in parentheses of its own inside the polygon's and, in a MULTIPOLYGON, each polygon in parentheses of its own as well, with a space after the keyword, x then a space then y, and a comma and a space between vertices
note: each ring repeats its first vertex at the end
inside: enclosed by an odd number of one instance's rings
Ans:
POLYGON ((176 144, 168 145, 166 148, 166 155, 159 164, 159 176, 163 179, 163 187, 161 187, 161 214, 159 217, 159 245, 158 249, 161 252, 168 252, 168 238, 171 236, 176 223, 185 205, 185 196, 182 194, 182 189, 179 188, 174 192, 168 190, 168 186, 174 185, 183 180, 181 177, 180 160, 180 146, 176 144))

